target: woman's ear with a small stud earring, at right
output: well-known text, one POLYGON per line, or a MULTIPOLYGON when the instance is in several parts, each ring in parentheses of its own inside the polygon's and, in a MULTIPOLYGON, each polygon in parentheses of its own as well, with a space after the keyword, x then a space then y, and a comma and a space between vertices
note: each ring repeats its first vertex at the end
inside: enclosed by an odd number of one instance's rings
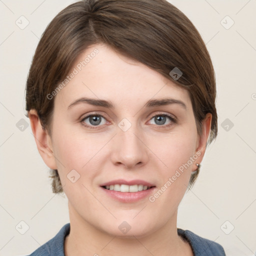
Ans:
POLYGON ((195 154, 198 155, 197 159, 194 161, 194 166, 192 168, 192 171, 197 169, 196 163, 199 163, 202 161, 202 158, 205 153, 206 145, 207 145, 207 139, 210 133, 210 126, 211 126, 211 113, 207 113, 205 118, 202 120, 201 124, 201 135, 197 135, 197 146, 195 154))

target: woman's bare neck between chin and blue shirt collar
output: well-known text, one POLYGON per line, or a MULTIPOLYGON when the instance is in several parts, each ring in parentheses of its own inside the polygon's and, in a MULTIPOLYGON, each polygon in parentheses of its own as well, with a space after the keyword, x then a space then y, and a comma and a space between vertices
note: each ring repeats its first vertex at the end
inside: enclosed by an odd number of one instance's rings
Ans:
POLYGON ((177 211, 164 226, 145 236, 118 237, 95 228, 68 203, 70 233, 65 238, 65 256, 162 256, 193 255, 191 247, 177 234, 177 211))

